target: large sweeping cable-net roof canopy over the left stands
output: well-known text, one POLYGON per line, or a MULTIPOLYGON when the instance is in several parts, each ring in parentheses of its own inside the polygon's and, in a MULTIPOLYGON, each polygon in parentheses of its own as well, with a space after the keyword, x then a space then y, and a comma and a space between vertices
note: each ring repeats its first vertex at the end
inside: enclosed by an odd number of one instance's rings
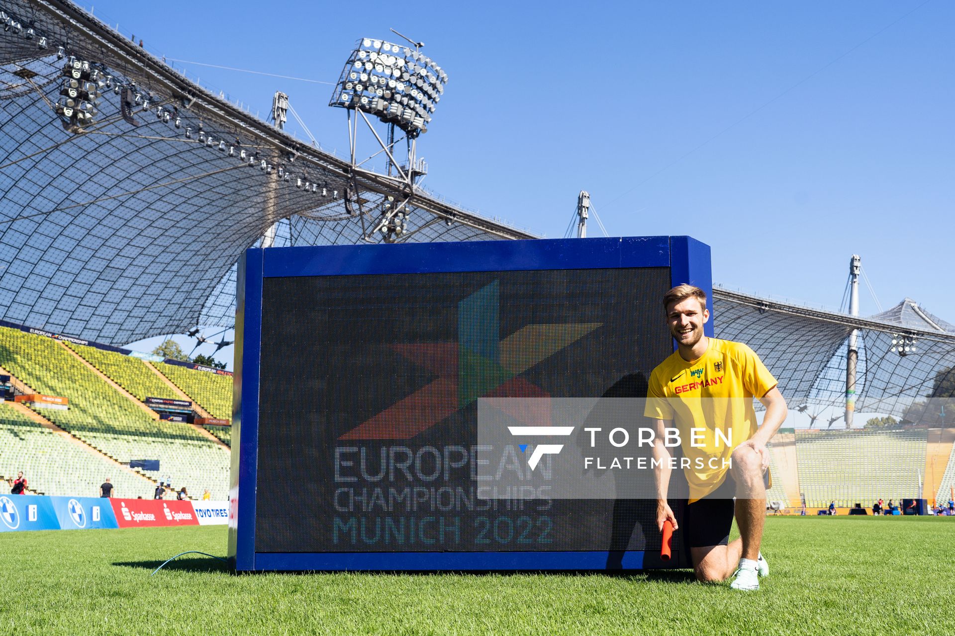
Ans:
MULTIPOLYGON (((351 176, 72 3, 0 10, 0 318, 111 344, 229 326, 235 263, 274 224, 275 245, 382 240, 387 179, 351 176), (53 107, 73 58, 109 81, 71 132, 53 107)), ((423 193, 407 211, 402 240, 529 236, 423 193)))

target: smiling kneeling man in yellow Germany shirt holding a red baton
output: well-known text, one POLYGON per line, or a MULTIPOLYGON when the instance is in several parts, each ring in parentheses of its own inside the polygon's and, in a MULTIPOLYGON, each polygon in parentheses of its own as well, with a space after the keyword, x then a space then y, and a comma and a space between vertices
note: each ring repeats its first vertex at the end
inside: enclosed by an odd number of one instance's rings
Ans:
POLYGON ((769 574, 759 551, 770 463, 766 444, 786 419, 786 401, 750 347, 704 335, 710 310, 703 290, 678 285, 663 301, 677 350, 653 370, 647 388, 645 415, 656 422, 657 525, 678 527, 667 502, 671 456, 665 445, 666 429, 675 425, 690 486, 684 537, 696 578, 715 583, 732 576, 733 589, 756 590, 759 577, 769 574), (766 407, 761 426, 753 398, 766 407), (741 536, 730 542, 733 516, 741 536))

